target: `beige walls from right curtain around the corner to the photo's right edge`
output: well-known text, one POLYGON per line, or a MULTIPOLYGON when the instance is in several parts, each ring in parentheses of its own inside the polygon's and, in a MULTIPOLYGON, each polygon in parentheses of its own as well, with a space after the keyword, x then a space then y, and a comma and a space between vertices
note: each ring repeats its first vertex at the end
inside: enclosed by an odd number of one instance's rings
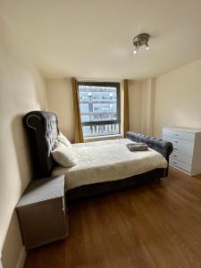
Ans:
POLYGON ((201 60, 156 79, 132 81, 130 130, 162 137, 163 127, 201 129, 201 60))

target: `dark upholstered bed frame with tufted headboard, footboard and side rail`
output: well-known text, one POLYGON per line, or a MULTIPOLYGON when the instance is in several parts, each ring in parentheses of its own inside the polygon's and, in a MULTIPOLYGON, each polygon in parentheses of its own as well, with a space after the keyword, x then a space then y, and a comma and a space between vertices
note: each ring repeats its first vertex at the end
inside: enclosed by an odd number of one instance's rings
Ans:
MULTIPOLYGON (((44 111, 32 111, 23 118, 24 126, 28 133, 29 146, 33 157, 34 178, 50 177, 54 168, 54 160, 51 150, 58 136, 58 120, 54 113, 44 111)), ((145 142, 148 147, 162 154, 169 163, 169 155, 172 153, 172 143, 154 137, 127 132, 126 138, 136 142, 145 142)), ((91 197, 109 191, 128 188, 136 184, 142 184, 150 180, 162 179, 168 174, 167 169, 155 169, 132 176, 123 180, 106 181, 90 185, 72 188, 67 191, 67 199, 74 200, 83 197, 91 197)))

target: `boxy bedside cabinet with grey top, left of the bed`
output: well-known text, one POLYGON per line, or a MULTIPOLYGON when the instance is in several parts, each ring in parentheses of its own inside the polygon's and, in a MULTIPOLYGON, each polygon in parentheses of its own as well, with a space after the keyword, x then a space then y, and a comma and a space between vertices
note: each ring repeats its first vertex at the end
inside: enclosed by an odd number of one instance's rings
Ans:
POLYGON ((27 249, 68 235, 64 176, 32 180, 16 208, 27 249))

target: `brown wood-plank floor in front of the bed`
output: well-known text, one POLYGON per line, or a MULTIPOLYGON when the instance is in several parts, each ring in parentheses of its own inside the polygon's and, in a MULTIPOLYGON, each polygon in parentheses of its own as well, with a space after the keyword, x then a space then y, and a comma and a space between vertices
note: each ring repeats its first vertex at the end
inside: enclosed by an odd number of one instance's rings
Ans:
POLYGON ((69 214, 68 239, 30 251, 25 268, 201 267, 201 176, 172 169, 168 180, 77 202, 69 214))

